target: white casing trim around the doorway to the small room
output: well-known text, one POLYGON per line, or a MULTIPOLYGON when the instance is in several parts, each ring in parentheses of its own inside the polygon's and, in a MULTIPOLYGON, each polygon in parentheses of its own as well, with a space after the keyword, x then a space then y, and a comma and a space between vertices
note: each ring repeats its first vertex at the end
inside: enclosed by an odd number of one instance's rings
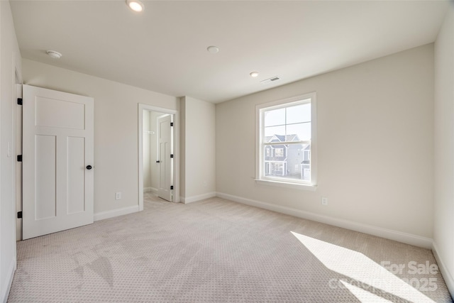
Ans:
POLYGON ((138 197, 139 211, 143 211, 143 111, 157 111, 174 115, 174 202, 179 202, 179 112, 148 104, 138 104, 138 197))

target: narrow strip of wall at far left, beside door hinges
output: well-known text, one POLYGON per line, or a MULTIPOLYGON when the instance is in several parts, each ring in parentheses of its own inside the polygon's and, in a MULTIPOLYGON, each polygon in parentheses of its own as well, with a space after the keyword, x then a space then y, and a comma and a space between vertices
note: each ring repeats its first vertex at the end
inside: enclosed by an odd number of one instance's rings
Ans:
POLYGON ((21 54, 9 1, 0 1, 0 31, 0 302, 6 302, 16 269, 16 69, 21 77, 21 54))

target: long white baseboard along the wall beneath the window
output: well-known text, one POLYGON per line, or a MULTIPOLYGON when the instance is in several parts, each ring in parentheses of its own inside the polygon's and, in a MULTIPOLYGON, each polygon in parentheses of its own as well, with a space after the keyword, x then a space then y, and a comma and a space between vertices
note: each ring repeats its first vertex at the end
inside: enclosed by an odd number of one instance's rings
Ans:
POLYGON ((381 228, 377 226, 357 223, 354 221, 348 221, 344 219, 337 219, 331 216, 325 216, 322 214, 314 214, 309 211, 301 211, 300 209, 294 209, 287 206, 280 206, 276 204, 271 204, 267 202, 261 202, 253 199, 247 199, 243 197, 233 196, 231 194, 224 194, 222 192, 216 193, 217 197, 228 199, 234 202, 247 204, 250 206, 260 207, 262 209, 268 209, 270 211, 277 211, 282 214, 288 214, 290 216, 297 216, 302 219, 308 219, 312 221, 321 222, 324 224, 329 224, 333 226, 338 226, 342 228, 347 228, 352 231, 359 231, 361 233, 368 233, 372 236, 378 236, 382 238, 387 238, 390 240, 410 244, 413 246, 419 246, 423 248, 432 248, 432 239, 425 238, 421 236, 416 236, 411 233, 403 233, 402 231, 393 231, 387 228, 381 228))

